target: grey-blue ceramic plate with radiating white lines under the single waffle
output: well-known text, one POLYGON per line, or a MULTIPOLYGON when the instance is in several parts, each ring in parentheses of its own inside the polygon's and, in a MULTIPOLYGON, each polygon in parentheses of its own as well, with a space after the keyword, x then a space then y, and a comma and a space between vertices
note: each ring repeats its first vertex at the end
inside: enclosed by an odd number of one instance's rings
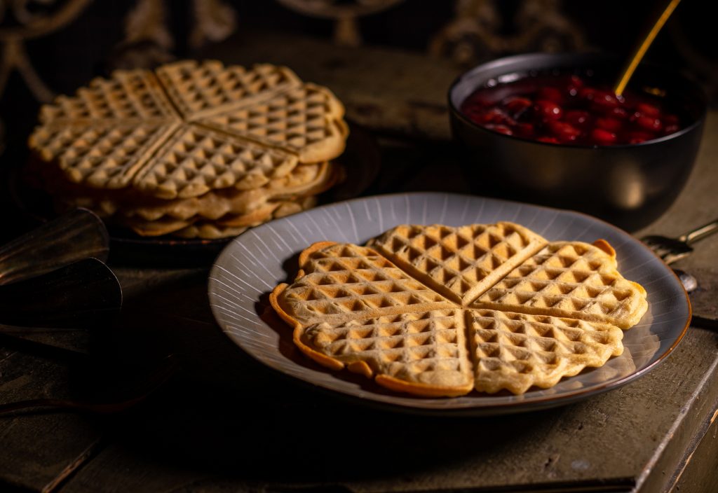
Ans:
POLYGON ((640 241, 591 216, 572 211, 448 193, 403 193, 359 198, 271 221, 225 246, 209 279, 210 305, 225 334, 246 353, 281 373, 318 388, 404 411, 489 414, 557 406, 628 383, 651 370, 676 347, 691 318, 679 279, 640 241), (397 224, 512 221, 551 241, 603 238, 617 253, 620 272, 648 291, 648 312, 624 334, 623 355, 545 390, 522 396, 472 392, 457 398, 393 393, 348 371, 326 370, 294 347, 288 325, 260 317, 267 295, 294 279, 297 255, 314 241, 363 244, 397 224))

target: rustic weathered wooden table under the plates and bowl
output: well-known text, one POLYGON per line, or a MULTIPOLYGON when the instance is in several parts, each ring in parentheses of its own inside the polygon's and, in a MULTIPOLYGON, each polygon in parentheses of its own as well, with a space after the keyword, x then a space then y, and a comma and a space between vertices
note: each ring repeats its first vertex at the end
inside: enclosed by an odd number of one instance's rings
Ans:
MULTIPOLYGON (((350 118, 382 136, 381 170, 364 193, 465 191, 460 155, 447 143, 444 98, 455 67, 401 52, 272 40, 274 47, 239 42, 211 55, 283 62, 330 85, 350 118), (378 81, 376 73, 396 77, 378 81), (428 166, 437 161, 442 179, 428 166)), ((717 132, 712 111, 681 196, 635 234, 680 234, 714 219, 717 132)), ((393 414, 298 385, 220 332, 208 306, 208 265, 114 262, 124 295, 117 320, 87 332, 0 339, 0 403, 112 398, 168 354, 180 370, 119 413, 0 416, 0 491, 718 491, 716 258, 718 236, 676 264, 699 280, 696 317, 651 373, 569 406, 485 418, 393 414)))

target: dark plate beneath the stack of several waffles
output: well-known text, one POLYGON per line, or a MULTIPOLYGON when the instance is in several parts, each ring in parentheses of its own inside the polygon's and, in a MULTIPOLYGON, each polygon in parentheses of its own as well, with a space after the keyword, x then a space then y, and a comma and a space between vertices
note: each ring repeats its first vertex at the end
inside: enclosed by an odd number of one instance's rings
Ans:
MULTIPOLYGON (((373 182, 379 171, 381 155, 378 144, 367 130, 349 124, 347 147, 335 161, 345 169, 345 180, 319 196, 320 204, 331 204, 359 196, 373 182)), ((29 219, 47 221, 56 216, 50 198, 22 185, 19 170, 9 177, 10 193, 15 204, 29 219)), ((139 236, 129 229, 108 227, 110 257, 113 264, 190 267, 209 265, 232 238, 181 239, 173 236, 139 236)))

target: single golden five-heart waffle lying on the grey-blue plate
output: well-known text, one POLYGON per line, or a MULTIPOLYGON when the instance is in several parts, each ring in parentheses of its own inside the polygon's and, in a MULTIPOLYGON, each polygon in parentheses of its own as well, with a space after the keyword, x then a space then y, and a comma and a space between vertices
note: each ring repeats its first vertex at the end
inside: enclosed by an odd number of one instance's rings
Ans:
POLYGON ((513 223, 396 226, 309 246, 299 268, 270 296, 299 349, 419 396, 549 388, 620 355, 648 308, 606 241, 513 223))

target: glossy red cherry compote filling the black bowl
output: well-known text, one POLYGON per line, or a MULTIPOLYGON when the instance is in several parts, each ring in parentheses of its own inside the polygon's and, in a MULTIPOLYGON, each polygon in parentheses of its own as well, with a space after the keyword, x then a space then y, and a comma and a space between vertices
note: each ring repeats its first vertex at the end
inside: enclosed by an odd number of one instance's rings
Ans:
POLYGON ((684 118, 660 97, 574 74, 519 77, 480 87, 461 111, 483 128, 552 144, 637 144, 675 133, 684 118))

